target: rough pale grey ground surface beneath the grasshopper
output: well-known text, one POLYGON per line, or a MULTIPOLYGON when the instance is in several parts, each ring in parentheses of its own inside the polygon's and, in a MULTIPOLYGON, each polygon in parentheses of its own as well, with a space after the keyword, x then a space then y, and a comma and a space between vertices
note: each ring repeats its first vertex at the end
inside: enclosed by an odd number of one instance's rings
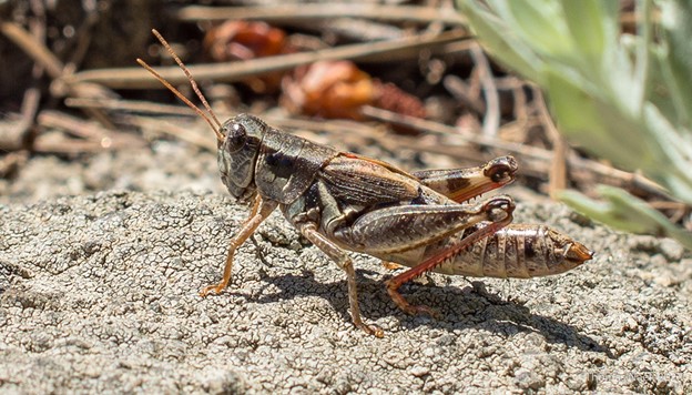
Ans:
POLYGON ((278 213, 226 292, 201 298, 247 210, 213 155, 181 160, 190 150, 37 158, 0 183, 0 392, 692 392, 691 255, 551 203, 520 201, 517 222, 597 257, 553 277, 403 288, 439 320, 397 310, 391 272, 355 255, 381 340, 354 328, 344 274, 278 213))

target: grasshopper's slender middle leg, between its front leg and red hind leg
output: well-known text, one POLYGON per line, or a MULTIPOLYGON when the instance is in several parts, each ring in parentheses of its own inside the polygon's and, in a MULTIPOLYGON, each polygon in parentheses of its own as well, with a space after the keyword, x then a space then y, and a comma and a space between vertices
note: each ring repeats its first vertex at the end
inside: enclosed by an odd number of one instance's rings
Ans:
POLYGON ((353 261, 338 245, 317 232, 317 226, 313 223, 306 223, 299 226, 301 233, 329 256, 336 264, 346 272, 346 281, 348 282, 348 304, 350 307, 350 316, 354 325, 376 337, 383 337, 384 331, 375 325, 368 325, 360 318, 360 308, 358 307, 358 291, 356 285, 356 272, 353 261))

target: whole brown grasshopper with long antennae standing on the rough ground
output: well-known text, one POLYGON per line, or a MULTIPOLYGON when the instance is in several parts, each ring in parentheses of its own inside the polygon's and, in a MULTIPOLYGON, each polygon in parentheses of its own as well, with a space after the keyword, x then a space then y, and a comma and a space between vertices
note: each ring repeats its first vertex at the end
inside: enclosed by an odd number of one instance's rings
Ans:
POLYGON ((404 312, 432 316, 432 308, 404 298, 398 291, 401 284, 429 271, 478 277, 546 276, 592 259, 584 245, 548 226, 511 224, 510 196, 469 202, 512 182, 513 158, 497 158, 478 168, 409 173, 288 134, 250 114, 221 123, 190 71, 163 37, 153 33, 185 72, 210 117, 151 67, 138 62, 210 124, 216 135, 221 180, 237 200, 252 202, 250 216, 231 240, 223 278, 204 287, 202 296, 220 294, 228 285, 235 251, 275 209, 346 273, 353 323, 377 337, 383 330, 360 317, 348 251, 411 267, 386 281, 387 293, 404 312))

